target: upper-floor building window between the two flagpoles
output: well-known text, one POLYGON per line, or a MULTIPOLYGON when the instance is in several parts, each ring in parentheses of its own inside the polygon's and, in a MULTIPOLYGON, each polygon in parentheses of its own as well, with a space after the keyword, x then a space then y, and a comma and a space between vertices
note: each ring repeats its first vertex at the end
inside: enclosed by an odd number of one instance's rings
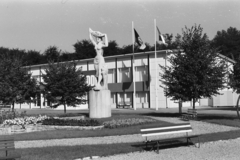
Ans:
POLYGON ((137 66, 135 67, 135 81, 147 81, 148 80, 148 67, 137 66))

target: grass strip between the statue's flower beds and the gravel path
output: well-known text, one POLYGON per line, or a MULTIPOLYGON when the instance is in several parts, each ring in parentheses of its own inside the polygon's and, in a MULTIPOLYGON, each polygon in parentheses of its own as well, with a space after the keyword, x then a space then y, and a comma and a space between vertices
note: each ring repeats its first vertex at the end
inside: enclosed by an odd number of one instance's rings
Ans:
MULTIPOLYGON (((104 121, 110 121, 112 119, 128 119, 128 118, 143 118, 140 115, 113 115, 111 118, 99 119, 102 123, 104 121)), ((156 121, 153 123, 147 123, 142 125, 134 125, 129 127, 120 127, 114 129, 100 129, 100 130, 49 130, 40 132, 28 132, 13 135, 16 141, 22 140, 44 140, 44 139, 62 139, 62 138, 83 138, 83 137, 102 137, 102 136, 114 136, 114 135, 128 135, 139 134, 140 128, 145 126, 154 125, 166 125, 169 124, 165 121, 156 121)))

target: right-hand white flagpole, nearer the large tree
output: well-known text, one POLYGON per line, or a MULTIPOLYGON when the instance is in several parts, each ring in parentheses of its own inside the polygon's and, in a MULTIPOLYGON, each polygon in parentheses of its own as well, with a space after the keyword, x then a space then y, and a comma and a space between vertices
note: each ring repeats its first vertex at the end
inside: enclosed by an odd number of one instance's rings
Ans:
POLYGON ((156 110, 158 110, 158 83, 157 83, 157 38, 156 38, 156 19, 154 19, 154 39, 155 39, 155 105, 156 105, 156 110))

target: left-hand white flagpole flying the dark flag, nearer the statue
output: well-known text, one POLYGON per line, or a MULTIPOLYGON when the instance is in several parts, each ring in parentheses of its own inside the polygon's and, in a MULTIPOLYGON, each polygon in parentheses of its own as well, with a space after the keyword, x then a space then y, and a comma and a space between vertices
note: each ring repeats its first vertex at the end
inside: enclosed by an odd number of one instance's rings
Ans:
POLYGON ((135 86, 135 56, 134 56, 134 24, 132 21, 132 43, 133 43, 133 59, 132 59, 132 75, 133 75, 133 108, 134 110, 136 110, 137 106, 136 106, 136 86, 135 86))

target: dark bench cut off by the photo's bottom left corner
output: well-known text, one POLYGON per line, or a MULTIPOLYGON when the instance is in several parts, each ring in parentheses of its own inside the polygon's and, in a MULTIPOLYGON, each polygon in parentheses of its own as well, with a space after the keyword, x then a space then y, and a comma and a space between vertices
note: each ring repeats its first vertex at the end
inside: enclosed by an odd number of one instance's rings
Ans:
POLYGON ((15 152, 14 137, 0 137, 0 159, 16 158, 21 158, 21 156, 15 152), (9 154, 9 151, 11 152, 11 154, 9 154))

